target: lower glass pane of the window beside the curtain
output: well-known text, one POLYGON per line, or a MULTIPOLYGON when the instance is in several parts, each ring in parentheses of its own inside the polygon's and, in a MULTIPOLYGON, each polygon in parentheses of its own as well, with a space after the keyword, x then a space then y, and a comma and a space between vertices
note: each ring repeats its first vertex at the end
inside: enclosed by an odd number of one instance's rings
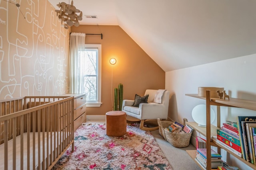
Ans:
POLYGON ((84 76, 84 92, 87 101, 97 101, 97 78, 96 76, 84 76))

